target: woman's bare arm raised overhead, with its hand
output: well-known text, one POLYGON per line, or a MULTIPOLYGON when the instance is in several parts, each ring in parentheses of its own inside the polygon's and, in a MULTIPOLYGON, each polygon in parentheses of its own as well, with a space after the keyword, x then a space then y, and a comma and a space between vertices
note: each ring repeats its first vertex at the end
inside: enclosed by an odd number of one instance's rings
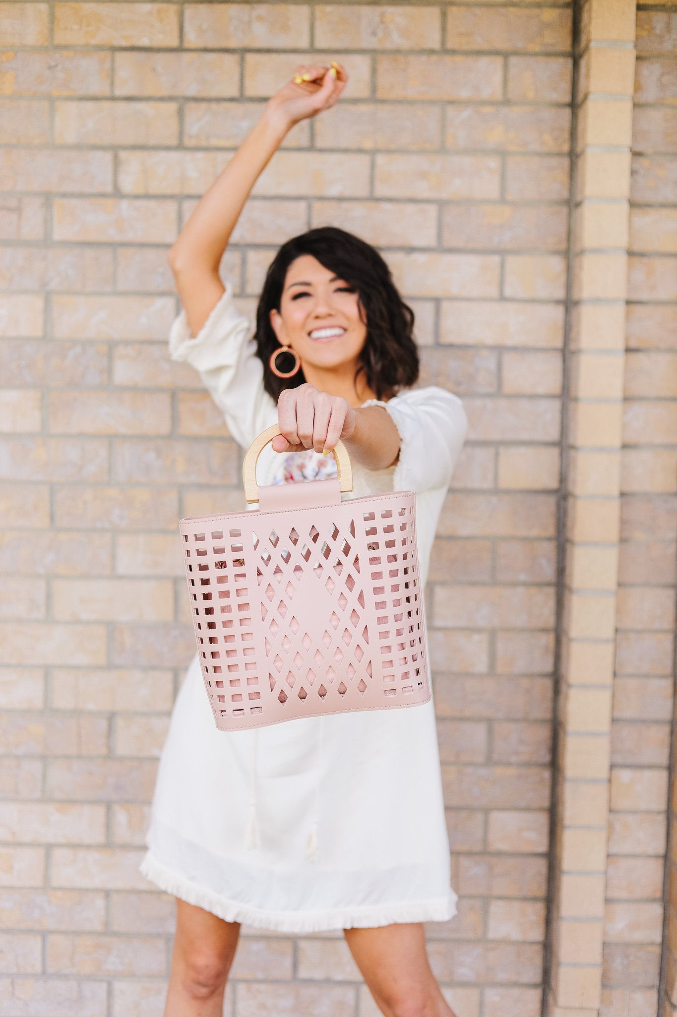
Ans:
POLYGON ((252 187, 290 128, 333 106, 346 81, 340 64, 297 66, 181 231, 168 261, 193 336, 223 294, 218 266, 252 187))

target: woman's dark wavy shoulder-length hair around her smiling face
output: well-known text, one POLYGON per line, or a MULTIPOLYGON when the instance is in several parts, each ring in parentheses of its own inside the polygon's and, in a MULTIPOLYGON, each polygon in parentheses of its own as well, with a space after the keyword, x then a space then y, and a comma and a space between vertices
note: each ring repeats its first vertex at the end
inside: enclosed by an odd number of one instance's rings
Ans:
MULTIPOLYGON (((279 378, 270 369, 270 355, 279 341, 270 323, 270 311, 280 309, 287 268, 301 254, 312 254, 321 264, 345 280, 358 293, 360 318, 366 340, 359 354, 355 381, 360 372, 378 399, 390 399, 399 388, 418 379, 418 349, 413 338, 414 312, 405 304, 393 282, 391 271, 371 244, 336 226, 322 226, 282 244, 266 274, 256 312, 257 354, 263 362, 266 392, 277 402, 283 388, 306 381, 303 369, 289 378, 279 378)), ((280 370, 291 370, 291 354, 280 355, 280 370)))

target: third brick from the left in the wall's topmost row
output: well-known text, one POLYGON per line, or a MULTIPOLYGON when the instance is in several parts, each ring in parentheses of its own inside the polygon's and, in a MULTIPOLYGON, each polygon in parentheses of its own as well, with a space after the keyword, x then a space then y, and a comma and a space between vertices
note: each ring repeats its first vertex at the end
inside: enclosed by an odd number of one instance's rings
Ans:
POLYGON ((292 4, 187 4, 185 45, 190 48, 287 49, 310 43, 310 12, 292 4))

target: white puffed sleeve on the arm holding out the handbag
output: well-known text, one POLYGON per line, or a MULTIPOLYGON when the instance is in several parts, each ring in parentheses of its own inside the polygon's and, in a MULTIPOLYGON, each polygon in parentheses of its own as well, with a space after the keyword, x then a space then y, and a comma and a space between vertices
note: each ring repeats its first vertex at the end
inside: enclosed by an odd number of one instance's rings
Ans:
POLYGON ((428 385, 398 393, 387 403, 370 399, 362 406, 385 407, 400 435, 393 490, 420 492, 449 486, 468 432, 458 396, 428 385))

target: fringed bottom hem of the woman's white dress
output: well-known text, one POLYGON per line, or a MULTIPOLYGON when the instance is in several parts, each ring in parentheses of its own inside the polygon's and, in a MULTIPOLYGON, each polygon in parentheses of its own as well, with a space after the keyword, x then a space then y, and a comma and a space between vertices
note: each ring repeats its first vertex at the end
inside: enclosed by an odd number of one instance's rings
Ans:
POLYGON ((224 921, 240 921, 258 929, 281 933, 321 933, 335 929, 374 929, 408 921, 448 921, 457 913, 458 894, 450 887, 447 898, 407 901, 402 904, 374 904, 367 907, 334 908, 326 911, 266 911, 241 904, 198 886, 170 872, 148 851, 139 872, 160 890, 211 911, 224 921))

